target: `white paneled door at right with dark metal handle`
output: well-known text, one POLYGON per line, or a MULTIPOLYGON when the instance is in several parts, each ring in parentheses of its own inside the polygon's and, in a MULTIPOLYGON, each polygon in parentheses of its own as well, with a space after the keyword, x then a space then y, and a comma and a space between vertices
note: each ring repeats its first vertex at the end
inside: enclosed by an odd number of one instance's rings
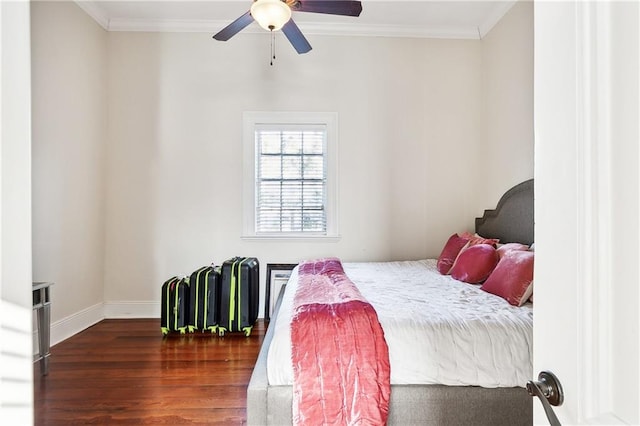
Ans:
POLYGON ((640 424, 640 6, 534 17, 534 375, 560 379, 562 424, 640 424))

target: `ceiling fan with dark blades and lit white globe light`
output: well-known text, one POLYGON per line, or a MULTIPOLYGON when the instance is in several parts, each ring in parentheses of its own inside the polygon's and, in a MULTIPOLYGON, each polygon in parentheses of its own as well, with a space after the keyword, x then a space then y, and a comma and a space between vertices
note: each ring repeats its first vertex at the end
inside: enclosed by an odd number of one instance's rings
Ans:
POLYGON ((213 36, 227 41, 254 20, 267 31, 282 29, 298 53, 307 53, 311 45, 291 19, 291 12, 360 16, 362 4, 351 0, 254 0, 251 9, 213 36))

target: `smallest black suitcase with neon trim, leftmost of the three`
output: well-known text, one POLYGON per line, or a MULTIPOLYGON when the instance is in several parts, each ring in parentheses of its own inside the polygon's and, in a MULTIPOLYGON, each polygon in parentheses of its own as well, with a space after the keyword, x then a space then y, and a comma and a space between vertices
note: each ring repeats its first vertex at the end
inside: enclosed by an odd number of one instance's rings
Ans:
POLYGON ((189 282, 185 278, 173 277, 162 284, 160 329, 167 335, 171 331, 184 334, 189 315, 189 282))

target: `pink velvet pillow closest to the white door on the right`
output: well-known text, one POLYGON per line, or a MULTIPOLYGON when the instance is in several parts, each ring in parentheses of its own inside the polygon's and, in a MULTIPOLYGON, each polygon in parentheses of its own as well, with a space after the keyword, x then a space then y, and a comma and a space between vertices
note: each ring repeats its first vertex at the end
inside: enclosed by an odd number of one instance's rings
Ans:
POLYGON ((531 251, 506 252, 481 289, 522 306, 533 292, 533 257, 531 251))

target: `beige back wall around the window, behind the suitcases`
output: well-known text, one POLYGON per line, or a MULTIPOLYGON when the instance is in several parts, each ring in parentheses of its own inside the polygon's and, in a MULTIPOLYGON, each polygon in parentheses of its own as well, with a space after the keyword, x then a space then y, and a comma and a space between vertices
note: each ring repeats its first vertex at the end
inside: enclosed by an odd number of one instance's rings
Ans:
POLYGON ((109 34, 106 302, 158 300, 172 274, 236 254, 424 258, 471 226, 479 41, 278 42, 272 67, 263 34, 109 34), (241 239, 243 111, 338 113, 339 242, 241 239))

